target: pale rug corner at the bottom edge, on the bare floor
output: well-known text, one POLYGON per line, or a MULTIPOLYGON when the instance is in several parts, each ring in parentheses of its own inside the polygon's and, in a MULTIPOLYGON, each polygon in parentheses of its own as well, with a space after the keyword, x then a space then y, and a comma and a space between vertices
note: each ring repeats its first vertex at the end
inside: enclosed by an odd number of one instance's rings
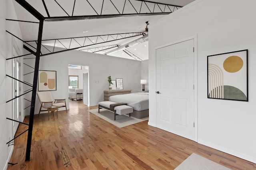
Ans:
POLYGON ((174 170, 230 170, 212 160, 192 153, 174 170))

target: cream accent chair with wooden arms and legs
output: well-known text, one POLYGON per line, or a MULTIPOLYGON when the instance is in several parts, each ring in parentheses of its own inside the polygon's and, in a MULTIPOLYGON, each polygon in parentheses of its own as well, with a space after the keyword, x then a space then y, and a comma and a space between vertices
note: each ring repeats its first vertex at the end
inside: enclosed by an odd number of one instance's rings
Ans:
POLYGON ((53 102, 52 93, 49 91, 37 92, 36 94, 41 103, 38 117, 41 111, 48 111, 48 107, 51 107, 51 106, 66 107, 66 112, 68 113, 66 99, 54 99, 54 102, 53 102))

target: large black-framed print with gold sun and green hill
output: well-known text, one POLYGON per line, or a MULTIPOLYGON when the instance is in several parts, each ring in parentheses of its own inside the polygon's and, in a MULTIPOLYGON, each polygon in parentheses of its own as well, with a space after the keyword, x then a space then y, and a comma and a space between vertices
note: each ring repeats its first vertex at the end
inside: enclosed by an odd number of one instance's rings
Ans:
POLYGON ((248 50, 207 56, 207 97, 248 102, 248 50))

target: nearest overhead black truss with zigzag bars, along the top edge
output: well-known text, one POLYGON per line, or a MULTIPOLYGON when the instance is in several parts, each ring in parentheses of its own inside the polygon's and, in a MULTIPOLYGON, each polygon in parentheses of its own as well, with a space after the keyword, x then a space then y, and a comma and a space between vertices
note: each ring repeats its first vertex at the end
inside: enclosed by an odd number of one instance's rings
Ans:
MULTIPOLYGON (((107 4, 107 3, 104 3, 104 0, 102 4, 91 4, 88 0, 86 0, 86 2, 88 3, 86 8, 90 8, 92 11, 94 11, 94 14, 87 15, 87 16, 76 16, 74 15, 74 10, 76 9, 76 6, 79 5, 78 4, 79 1, 74 0, 74 5, 72 7, 70 6, 69 10, 71 10, 72 8, 72 14, 68 14, 68 12, 64 9, 64 7, 62 7, 56 0, 54 1, 61 8, 62 12, 66 14, 66 16, 56 16, 55 14, 55 17, 51 17, 46 4, 44 3, 44 0, 42 0, 44 4, 44 8, 47 13, 47 17, 44 18, 44 21, 89 20, 89 19, 126 17, 126 16, 164 15, 164 14, 170 14, 174 12, 174 10, 178 10, 179 8, 182 8, 182 6, 156 3, 156 2, 146 1, 146 0, 125 0, 123 1, 124 4, 122 4, 122 6, 119 6, 118 8, 118 5, 116 3, 120 4, 120 1, 114 2, 112 0, 109 0, 111 3, 109 3, 108 5, 112 6, 114 10, 112 11, 112 14, 104 15, 102 14, 102 12, 104 12, 104 8, 106 8, 105 5, 107 4)), ((54 12, 56 13, 56 11, 54 12)))

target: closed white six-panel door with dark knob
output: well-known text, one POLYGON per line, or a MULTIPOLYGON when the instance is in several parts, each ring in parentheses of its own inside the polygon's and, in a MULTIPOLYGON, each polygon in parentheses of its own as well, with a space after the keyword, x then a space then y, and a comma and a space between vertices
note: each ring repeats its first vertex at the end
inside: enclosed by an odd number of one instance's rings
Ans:
POLYGON ((194 141, 194 39, 156 50, 156 127, 194 141))

